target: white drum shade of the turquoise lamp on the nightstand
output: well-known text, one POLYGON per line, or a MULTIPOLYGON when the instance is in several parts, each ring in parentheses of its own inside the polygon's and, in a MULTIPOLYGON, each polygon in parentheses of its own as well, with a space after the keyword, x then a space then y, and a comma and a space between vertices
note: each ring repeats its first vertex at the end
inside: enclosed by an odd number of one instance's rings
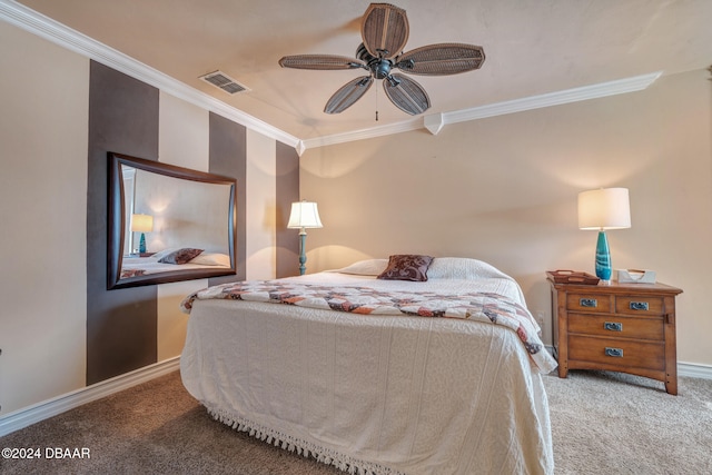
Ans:
POLYGON ((624 229, 631 227, 627 188, 603 188, 578 194, 580 229, 624 229))

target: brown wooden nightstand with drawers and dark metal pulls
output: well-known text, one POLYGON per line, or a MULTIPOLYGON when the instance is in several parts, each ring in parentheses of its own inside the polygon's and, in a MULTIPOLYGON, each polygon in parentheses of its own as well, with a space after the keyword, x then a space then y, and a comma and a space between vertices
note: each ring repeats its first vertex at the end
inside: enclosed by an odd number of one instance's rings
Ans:
POLYGON ((675 296, 664 284, 555 284, 554 356, 568 369, 630 373, 665 383, 678 394, 675 296))

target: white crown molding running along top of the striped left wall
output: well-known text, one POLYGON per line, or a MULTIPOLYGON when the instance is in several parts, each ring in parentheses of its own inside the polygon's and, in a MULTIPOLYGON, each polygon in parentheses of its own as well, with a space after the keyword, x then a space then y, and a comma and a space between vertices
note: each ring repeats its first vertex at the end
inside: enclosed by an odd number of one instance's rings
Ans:
POLYGON ((191 88, 21 3, 12 0, 0 0, 0 19, 62 48, 154 86, 189 103, 219 113, 275 140, 293 147, 297 147, 300 142, 296 137, 267 122, 228 106, 205 92, 191 88))

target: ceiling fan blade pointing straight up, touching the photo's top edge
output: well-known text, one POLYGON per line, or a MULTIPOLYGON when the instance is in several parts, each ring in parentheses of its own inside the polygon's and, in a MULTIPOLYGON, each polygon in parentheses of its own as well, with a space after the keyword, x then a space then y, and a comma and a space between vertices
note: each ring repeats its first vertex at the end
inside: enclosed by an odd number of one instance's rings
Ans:
POLYGON ((360 36, 375 58, 394 58, 408 41, 408 18, 405 10, 388 3, 372 3, 364 13, 360 36))

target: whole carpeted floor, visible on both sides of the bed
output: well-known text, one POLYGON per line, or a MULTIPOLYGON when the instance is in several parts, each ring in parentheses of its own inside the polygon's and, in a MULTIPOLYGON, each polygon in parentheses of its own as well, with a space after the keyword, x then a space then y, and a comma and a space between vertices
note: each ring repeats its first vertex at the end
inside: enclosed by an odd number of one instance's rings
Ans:
MULTIPOLYGON (((619 374, 544 380, 557 474, 712 474, 712 380, 681 378, 676 397, 662 383, 619 374)), ((215 422, 178 373, 1 437, 2 447, 41 453, 0 458, 3 475, 343 474, 215 422), (90 458, 57 457, 56 448, 81 456, 82 447, 90 458)))

